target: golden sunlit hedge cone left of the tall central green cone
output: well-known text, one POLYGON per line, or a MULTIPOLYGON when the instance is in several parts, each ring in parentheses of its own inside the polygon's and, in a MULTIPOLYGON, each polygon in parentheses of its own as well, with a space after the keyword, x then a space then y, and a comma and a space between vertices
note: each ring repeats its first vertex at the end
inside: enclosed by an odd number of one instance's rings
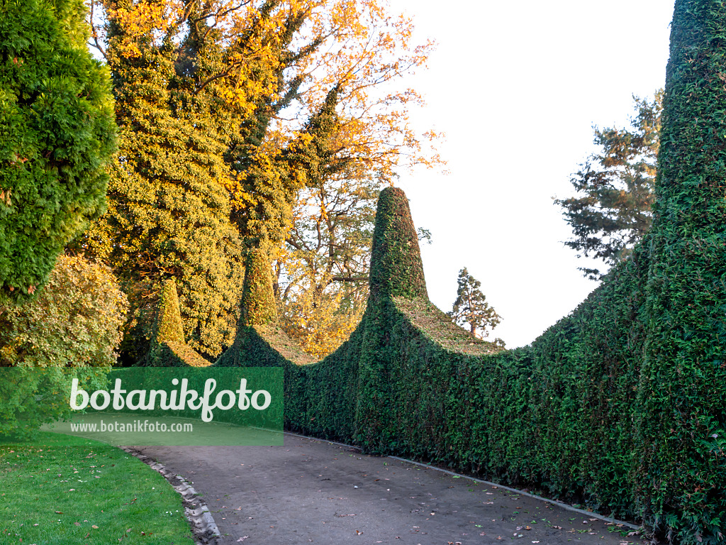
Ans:
POLYGON ((251 249, 245 265, 242 287, 241 326, 277 323, 277 304, 272 290, 272 266, 263 249, 251 249))

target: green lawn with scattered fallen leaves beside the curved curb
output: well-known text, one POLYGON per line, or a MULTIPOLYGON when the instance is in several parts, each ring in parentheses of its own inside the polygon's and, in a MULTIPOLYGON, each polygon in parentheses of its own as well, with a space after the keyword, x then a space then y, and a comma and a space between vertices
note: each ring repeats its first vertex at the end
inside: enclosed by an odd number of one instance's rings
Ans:
POLYGON ((0 544, 193 544, 161 475, 119 448, 80 437, 58 446, 56 435, 0 446, 0 544))

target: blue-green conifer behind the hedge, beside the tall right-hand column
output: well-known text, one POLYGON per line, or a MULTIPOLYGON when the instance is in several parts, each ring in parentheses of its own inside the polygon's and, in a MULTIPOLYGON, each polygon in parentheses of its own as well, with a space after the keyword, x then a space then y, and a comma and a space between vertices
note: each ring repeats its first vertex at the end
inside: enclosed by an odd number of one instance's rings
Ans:
MULTIPOLYGON (((615 265, 650 228, 662 99, 662 91, 653 100, 634 97, 636 116, 630 129, 595 127, 595 144, 601 150, 571 179, 577 196, 555 199, 574 234, 565 244, 578 257, 615 265)), ((592 280, 602 278, 598 269, 579 270, 592 280)))

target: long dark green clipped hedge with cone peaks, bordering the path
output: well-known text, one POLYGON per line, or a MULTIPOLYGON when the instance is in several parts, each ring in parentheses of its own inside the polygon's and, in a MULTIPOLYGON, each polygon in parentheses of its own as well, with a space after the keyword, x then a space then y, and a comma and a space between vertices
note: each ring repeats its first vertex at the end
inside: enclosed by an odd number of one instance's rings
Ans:
POLYGON ((452 330, 387 188, 351 339, 306 365, 272 321, 241 324, 218 365, 285 368, 291 429, 538 488, 670 543, 726 543, 725 36, 721 0, 676 1, 653 230, 529 347, 452 330))

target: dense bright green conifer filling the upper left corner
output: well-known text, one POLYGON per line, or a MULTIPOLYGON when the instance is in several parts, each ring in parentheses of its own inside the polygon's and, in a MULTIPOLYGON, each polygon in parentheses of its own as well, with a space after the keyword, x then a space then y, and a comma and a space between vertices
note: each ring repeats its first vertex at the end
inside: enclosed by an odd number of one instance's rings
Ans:
POLYGON ((107 69, 82 0, 0 1, 0 300, 26 301, 105 209, 107 69))

